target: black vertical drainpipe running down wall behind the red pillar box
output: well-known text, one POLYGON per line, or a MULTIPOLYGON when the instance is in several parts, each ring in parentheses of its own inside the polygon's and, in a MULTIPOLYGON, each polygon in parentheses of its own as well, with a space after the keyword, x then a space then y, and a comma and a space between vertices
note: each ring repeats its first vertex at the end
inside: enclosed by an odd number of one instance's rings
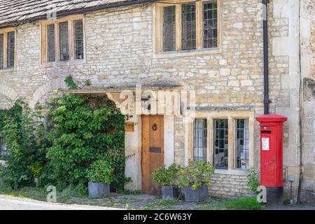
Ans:
POLYGON ((262 0, 262 4, 264 5, 263 13, 263 41, 264 41, 264 113, 269 114, 269 64, 268 64, 268 21, 267 21, 267 4, 269 0, 262 0))

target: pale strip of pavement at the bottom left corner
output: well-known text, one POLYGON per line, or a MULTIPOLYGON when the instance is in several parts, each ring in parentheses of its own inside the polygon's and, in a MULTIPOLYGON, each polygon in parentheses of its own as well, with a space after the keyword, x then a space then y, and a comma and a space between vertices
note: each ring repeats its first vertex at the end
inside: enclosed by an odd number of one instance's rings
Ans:
POLYGON ((0 195, 0 210, 120 210, 79 204, 40 202, 27 198, 0 195))

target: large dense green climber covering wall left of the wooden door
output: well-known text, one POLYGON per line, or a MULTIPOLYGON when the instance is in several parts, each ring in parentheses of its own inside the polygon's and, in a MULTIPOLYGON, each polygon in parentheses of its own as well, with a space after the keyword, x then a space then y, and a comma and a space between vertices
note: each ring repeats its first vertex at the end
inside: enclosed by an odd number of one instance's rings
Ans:
MULTIPOLYGON (((71 76, 67 78, 69 87, 71 76)), ((73 80, 72 80, 73 81, 73 80)), ((75 83, 74 83, 75 84, 75 83)), ((62 190, 87 186, 87 169, 106 158, 113 167, 112 187, 123 189, 125 177, 125 117, 105 97, 64 94, 48 102, 48 165, 44 176, 62 190)))

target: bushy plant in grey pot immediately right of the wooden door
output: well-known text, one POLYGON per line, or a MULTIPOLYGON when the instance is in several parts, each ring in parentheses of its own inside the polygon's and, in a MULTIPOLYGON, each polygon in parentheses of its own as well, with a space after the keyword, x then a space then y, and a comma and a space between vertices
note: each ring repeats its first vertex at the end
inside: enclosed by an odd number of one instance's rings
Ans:
POLYGON ((179 165, 174 163, 169 168, 160 167, 153 173, 153 180, 162 186, 163 200, 179 197, 179 188, 176 186, 179 169, 179 165))

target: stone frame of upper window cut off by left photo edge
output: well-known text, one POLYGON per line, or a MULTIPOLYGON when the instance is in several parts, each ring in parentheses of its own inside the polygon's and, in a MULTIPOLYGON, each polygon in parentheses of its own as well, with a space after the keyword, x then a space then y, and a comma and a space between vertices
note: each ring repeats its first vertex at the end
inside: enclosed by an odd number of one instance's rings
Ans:
POLYGON ((5 69, 15 69, 16 68, 16 42, 17 42, 17 29, 10 27, 5 29, 0 29, 0 34, 3 34, 3 68, 0 71, 5 69), (14 66, 8 67, 8 33, 14 32, 14 66))

